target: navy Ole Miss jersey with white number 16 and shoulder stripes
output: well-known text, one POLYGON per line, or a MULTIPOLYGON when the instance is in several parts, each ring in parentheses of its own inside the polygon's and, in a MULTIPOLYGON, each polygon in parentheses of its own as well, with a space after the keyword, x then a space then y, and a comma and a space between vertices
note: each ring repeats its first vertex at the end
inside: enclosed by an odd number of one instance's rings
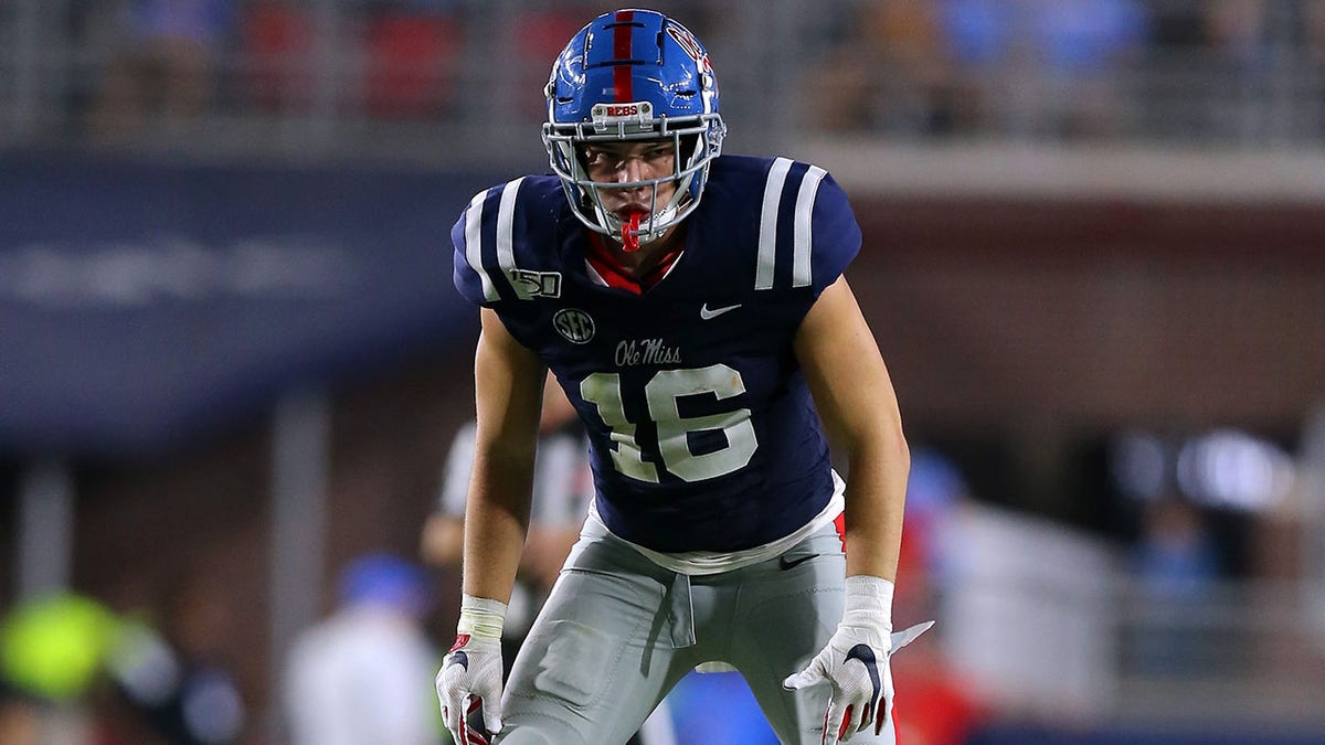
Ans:
POLYGON ((560 182, 526 176, 460 216, 454 281, 566 390, 613 533, 657 551, 734 551, 792 533, 832 494, 792 338, 860 228, 822 168, 725 155, 685 231, 656 285, 606 286, 560 182))

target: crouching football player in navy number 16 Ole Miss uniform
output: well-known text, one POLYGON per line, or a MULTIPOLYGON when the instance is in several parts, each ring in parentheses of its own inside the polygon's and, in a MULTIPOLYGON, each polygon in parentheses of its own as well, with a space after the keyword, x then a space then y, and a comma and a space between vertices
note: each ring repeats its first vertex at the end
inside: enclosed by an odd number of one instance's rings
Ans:
POLYGON ((554 175, 480 192, 452 231, 482 331, 447 726, 620 744, 689 669, 730 665, 786 744, 894 742, 889 655, 924 630, 892 634, 909 453, 841 276, 847 196, 811 164, 719 158, 709 56, 652 11, 584 27, 546 97, 554 175), (546 369, 596 493, 504 695, 546 369))

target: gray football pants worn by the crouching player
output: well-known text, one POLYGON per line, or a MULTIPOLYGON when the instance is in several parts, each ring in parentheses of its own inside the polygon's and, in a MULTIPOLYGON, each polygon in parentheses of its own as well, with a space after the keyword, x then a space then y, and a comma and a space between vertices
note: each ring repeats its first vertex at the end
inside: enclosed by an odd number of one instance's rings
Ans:
MULTIPOLYGON (((779 558, 706 577, 661 569, 613 537, 582 538, 515 659, 497 742, 620 745, 686 672, 721 660, 782 742, 819 745, 828 685, 791 692, 782 680, 836 630, 844 574, 832 525, 779 558)), ((886 729, 851 745, 890 745, 886 729)))

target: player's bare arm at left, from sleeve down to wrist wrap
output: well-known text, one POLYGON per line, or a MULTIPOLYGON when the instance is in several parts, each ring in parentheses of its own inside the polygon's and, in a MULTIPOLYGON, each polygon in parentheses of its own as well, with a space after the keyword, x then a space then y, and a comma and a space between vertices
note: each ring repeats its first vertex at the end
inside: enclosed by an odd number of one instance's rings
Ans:
POLYGON ((474 354, 477 431, 465 504, 464 591, 510 601, 529 530, 545 367, 482 309, 474 354))

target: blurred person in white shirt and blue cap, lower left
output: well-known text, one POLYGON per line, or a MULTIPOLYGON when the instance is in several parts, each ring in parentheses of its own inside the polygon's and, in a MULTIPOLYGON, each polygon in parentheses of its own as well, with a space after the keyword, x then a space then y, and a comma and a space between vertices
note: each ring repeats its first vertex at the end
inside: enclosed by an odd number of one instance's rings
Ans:
POLYGON ((342 571, 339 599, 290 650, 290 744, 441 742, 432 684, 441 655, 420 623, 429 604, 424 570, 390 554, 360 557, 342 571))

